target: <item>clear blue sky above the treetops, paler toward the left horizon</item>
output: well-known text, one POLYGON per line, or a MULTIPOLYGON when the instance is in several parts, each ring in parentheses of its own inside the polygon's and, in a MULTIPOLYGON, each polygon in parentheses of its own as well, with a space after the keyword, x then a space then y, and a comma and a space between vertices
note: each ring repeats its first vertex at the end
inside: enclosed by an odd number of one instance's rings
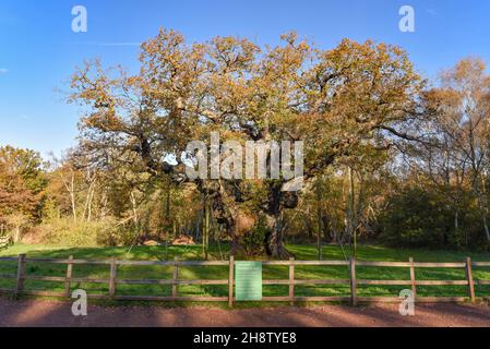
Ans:
POLYGON ((63 100, 73 68, 98 57, 135 70, 136 44, 160 26, 189 41, 239 35, 274 45, 292 29, 322 48, 371 38, 405 48, 433 77, 466 56, 490 62, 489 16, 487 0, 1 0, 0 145, 43 155, 74 145, 80 110, 63 100), (79 4, 88 12, 87 33, 71 29, 79 4), (415 33, 398 31, 404 4, 415 9, 415 33))

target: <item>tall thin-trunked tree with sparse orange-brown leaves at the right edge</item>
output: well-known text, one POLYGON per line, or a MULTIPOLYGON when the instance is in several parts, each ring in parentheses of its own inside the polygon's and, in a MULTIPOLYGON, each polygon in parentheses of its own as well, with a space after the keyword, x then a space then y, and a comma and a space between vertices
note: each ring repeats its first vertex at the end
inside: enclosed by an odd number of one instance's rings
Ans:
MULTIPOLYGON (((480 59, 468 58, 444 71, 441 87, 428 93, 428 105, 438 115, 438 131, 442 149, 442 168, 438 173, 445 184, 454 186, 455 228, 458 228, 458 207, 462 186, 468 181, 483 232, 490 242, 488 226, 487 178, 489 169, 490 76, 480 59)), ((433 161, 431 161, 433 163, 433 161)), ((432 169, 431 169, 432 170, 432 169)))

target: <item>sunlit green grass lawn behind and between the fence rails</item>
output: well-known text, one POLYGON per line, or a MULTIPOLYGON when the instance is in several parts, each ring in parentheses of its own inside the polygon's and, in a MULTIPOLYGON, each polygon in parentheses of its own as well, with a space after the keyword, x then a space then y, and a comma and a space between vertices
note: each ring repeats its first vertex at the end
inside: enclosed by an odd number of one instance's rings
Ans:
MULTIPOLYGON (((227 246, 213 245, 210 251, 210 260, 227 258, 227 246)), ((29 257, 67 258, 73 255, 75 258, 108 260, 112 256, 119 260, 165 261, 179 256, 181 260, 203 260, 202 248, 193 246, 135 246, 130 252, 128 248, 69 248, 50 245, 14 245, 0 251, 0 256, 15 256, 26 253, 29 257)), ((288 250, 295 253, 297 260, 307 261, 316 258, 316 249, 313 245, 288 245, 288 250)), ((351 254, 349 248, 345 251, 348 257, 351 254)), ((451 251, 427 251, 390 249, 378 245, 361 245, 358 249, 359 261, 386 261, 406 262, 413 256, 416 262, 463 262, 466 256, 473 261, 490 261, 490 253, 469 253, 451 251)), ((343 250, 337 245, 323 246, 324 260, 344 260, 343 250)), ((287 279, 287 266, 264 266, 264 279, 287 279)), ((15 262, 0 262, 0 274, 15 274, 15 262)), ((64 276, 65 265, 48 263, 27 264, 26 273, 37 276, 64 276)), ((164 266, 119 266, 118 278, 127 279, 170 279, 171 267, 164 266)), ((108 278, 108 266, 74 265, 74 277, 108 278)), ((195 266, 180 268, 181 279, 227 279, 228 268, 222 266, 195 266)), ((296 266, 295 277, 298 279, 348 279, 346 266, 296 266)), ((401 279, 409 280, 408 268, 390 267, 358 267, 359 279, 401 279)), ((464 269, 450 268, 418 268, 416 269, 418 280, 457 280, 465 279, 464 269)), ((490 279, 490 268, 475 268, 475 279, 490 279)), ((13 288, 14 279, 1 279, 0 288, 13 288)), ((26 280, 27 290, 63 291, 60 282, 26 280)), ((107 293, 108 286, 105 284, 72 284, 72 289, 82 288, 89 293, 107 293)), ((358 286, 358 296, 398 296, 404 286, 358 286)), ((429 297, 456 297, 466 296, 466 286, 426 286, 418 287, 418 296, 429 297)), ((117 294, 140 296, 170 296, 171 286, 167 285, 118 285, 117 294)), ((264 296, 287 296, 288 286, 264 286, 264 296)), ((297 296, 349 296, 348 286, 296 286, 297 296)), ((490 297, 490 286, 476 286, 477 297, 490 297)), ((228 286, 179 286, 179 296, 227 296, 228 286)))

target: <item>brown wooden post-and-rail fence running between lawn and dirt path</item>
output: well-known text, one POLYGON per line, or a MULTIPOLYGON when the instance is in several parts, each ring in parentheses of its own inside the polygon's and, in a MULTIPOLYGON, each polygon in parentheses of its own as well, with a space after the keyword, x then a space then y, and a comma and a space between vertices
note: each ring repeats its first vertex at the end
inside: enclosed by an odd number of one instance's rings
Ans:
MULTIPOLYGON (((235 273, 235 260, 230 256, 229 261, 212 261, 212 262, 198 262, 198 261, 179 261, 177 257, 175 261, 169 262, 152 262, 152 261, 118 261, 111 258, 109 261, 91 261, 91 260, 74 260, 70 256, 68 260, 52 260, 52 258, 28 258, 25 254, 20 254, 17 257, 0 257, 0 263, 5 261, 15 261, 17 264, 16 274, 0 274, 1 278, 12 278, 16 280, 14 289, 0 289, 1 293, 19 294, 33 294, 33 296, 47 296, 47 297, 63 297, 69 298, 71 296, 70 289, 73 282, 88 282, 88 284, 106 284, 108 285, 107 294, 88 294, 89 298, 111 299, 111 300, 140 300, 140 301, 216 301, 228 302, 232 306, 234 298, 234 273, 235 273), (26 273, 26 265, 32 263, 52 263, 67 265, 65 276, 34 276, 26 273), (95 278, 75 278, 73 277, 73 268, 75 265, 106 265, 109 268, 108 279, 95 279, 95 278), (171 266, 172 278, 171 279, 122 279, 118 278, 119 266, 171 266), (229 269, 227 279, 198 279, 198 280, 182 280, 179 279, 179 268, 184 266, 227 266, 229 269), (49 292, 43 290, 26 290, 24 287, 25 280, 41 280, 41 281, 56 281, 64 284, 64 292, 49 292), (171 296, 158 297, 158 296, 120 296, 117 294, 118 285, 169 285, 171 286, 171 296), (178 287, 179 285, 228 285, 227 297, 180 297, 178 287)), ((357 305, 358 302, 399 302, 397 297, 358 297, 357 287, 362 285, 384 285, 384 286, 406 286, 411 289, 414 294, 417 294, 417 286, 466 286, 467 297, 416 297, 417 302, 463 302, 470 300, 475 302, 475 286, 476 285, 490 285, 490 280, 475 280, 473 277, 473 267, 490 267, 490 262, 471 262, 468 257, 462 263, 418 263, 414 262, 414 258, 409 258, 408 262, 360 262, 355 258, 350 261, 266 261, 262 262, 263 265, 279 265, 288 266, 289 277, 287 279, 264 279, 263 285, 286 285, 288 286, 288 296, 284 297, 263 297, 263 301, 273 302, 350 302, 352 305, 357 305), (345 266, 349 270, 348 279, 297 279, 295 278, 296 266, 345 266), (396 267, 407 268, 409 270, 409 280, 372 280, 372 279, 358 279, 356 276, 356 268, 363 267, 396 267), (465 279, 462 280, 417 280, 416 268, 461 268, 465 270, 465 279), (348 297, 298 297, 295 296, 295 286, 298 285, 348 285, 350 288, 350 296, 348 297)))

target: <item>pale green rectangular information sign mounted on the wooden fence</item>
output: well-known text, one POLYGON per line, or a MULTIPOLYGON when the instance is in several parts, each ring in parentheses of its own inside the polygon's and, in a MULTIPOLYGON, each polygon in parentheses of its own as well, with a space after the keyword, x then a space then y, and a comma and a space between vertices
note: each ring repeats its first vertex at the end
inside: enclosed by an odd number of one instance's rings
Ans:
POLYGON ((235 262, 237 301, 262 300, 262 262, 235 262))

